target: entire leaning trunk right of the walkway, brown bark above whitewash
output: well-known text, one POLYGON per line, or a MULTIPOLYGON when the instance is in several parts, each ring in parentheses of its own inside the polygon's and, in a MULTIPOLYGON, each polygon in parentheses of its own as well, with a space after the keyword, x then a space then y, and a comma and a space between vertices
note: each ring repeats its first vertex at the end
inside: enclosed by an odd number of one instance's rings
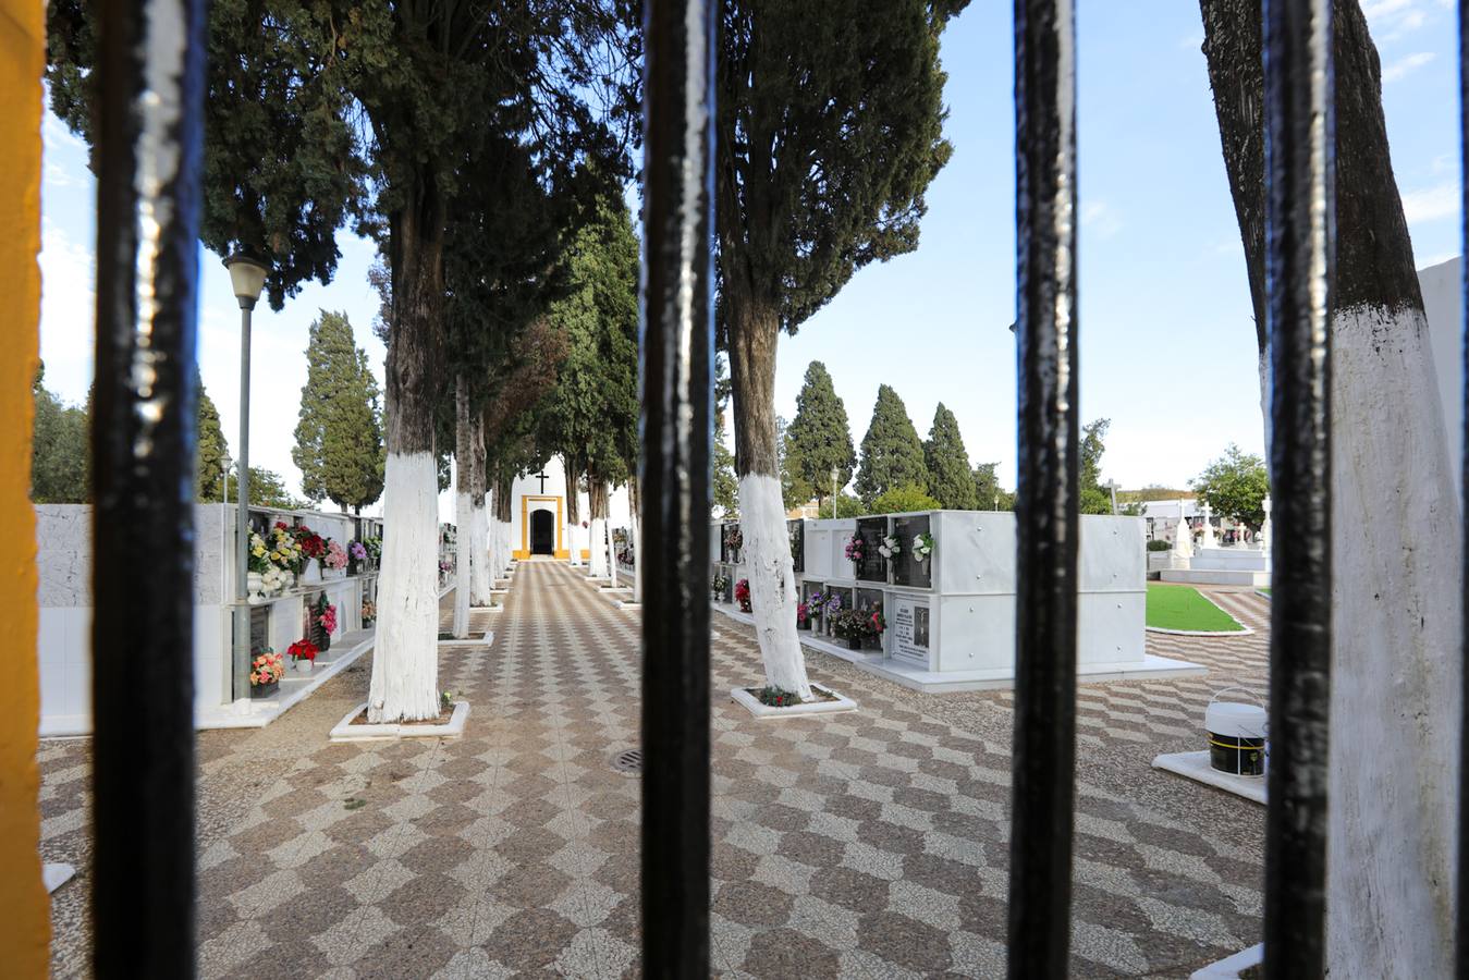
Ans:
POLYGON ((796 638, 796 574, 786 533, 776 453, 776 344, 780 320, 774 303, 737 297, 730 303, 730 381, 734 386, 734 472, 739 520, 749 576, 755 636, 765 682, 811 698, 806 661, 796 638))

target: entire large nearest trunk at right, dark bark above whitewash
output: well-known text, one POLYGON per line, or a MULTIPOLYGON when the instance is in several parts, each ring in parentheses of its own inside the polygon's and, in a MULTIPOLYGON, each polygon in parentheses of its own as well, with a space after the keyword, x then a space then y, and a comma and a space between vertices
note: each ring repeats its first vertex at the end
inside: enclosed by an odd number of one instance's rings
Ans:
MULTIPOLYGON (((1263 359, 1260 4, 1200 6, 1263 359)), ((1337 0, 1334 13, 1328 965, 1343 977, 1445 977, 1462 545, 1443 529, 1459 526, 1459 501, 1388 156, 1376 48, 1356 0, 1337 0)), ((1262 398, 1268 404, 1263 373, 1262 398)))

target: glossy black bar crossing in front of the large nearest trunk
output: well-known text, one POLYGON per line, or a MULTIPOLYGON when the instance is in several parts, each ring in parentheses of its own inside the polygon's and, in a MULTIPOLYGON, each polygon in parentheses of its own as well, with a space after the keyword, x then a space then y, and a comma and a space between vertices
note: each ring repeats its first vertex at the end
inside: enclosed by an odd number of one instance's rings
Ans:
POLYGON ((1325 968, 1331 710, 1331 0, 1265 0, 1266 329, 1271 347, 1271 771, 1265 976, 1325 968))

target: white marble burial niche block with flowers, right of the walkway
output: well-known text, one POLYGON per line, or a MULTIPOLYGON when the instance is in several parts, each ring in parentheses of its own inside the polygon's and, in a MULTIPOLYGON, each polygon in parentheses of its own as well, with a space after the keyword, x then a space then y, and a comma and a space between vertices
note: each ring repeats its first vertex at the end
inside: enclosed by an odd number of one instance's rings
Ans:
MULTIPOLYGON (((790 520, 806 646, 925 692, 1015 682, 1015 514, 933 510, 790 520), (876 619, 874 619, 876 617, 876 619)), ((1146 649, 1147 552, 1141 517, 1081 517, 1077 674, 1086 680, 1203 674, 1146 649)), ((737 601, 737 522, 711 530, 714 605, 737 601)))

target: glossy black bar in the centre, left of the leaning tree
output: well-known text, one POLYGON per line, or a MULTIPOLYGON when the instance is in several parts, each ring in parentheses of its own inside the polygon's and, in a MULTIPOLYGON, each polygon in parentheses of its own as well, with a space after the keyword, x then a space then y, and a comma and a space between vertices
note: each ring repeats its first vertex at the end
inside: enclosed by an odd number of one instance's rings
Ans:
POLYGON ((642 968, 710 973, 712 0, 643 13, 642 968))

